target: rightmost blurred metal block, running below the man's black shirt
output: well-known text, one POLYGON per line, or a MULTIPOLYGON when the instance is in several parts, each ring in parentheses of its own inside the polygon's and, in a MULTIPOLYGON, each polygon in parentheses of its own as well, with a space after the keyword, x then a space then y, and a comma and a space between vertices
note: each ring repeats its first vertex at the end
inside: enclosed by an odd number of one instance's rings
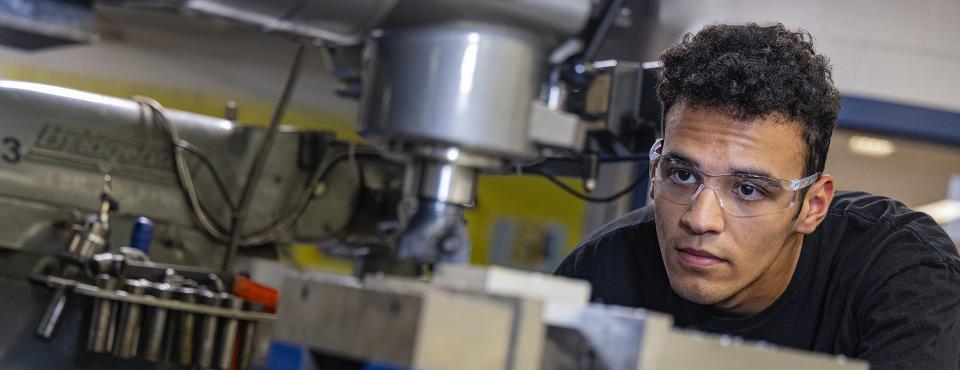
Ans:
POLYGON ((866 369, 863 361, 673 328, 666 314, 591 304, 549 323, 543 369, 866 369))

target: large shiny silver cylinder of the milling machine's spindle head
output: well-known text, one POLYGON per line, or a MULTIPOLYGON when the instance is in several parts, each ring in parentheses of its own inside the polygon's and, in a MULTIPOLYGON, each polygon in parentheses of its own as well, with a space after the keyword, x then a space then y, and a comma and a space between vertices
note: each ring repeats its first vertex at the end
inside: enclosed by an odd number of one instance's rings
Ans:
POLYGON ((494 25, 388 31, 372 41, 358 124, 380 142, 446 143, 530 158, 530 103, 548 44, 494 25))

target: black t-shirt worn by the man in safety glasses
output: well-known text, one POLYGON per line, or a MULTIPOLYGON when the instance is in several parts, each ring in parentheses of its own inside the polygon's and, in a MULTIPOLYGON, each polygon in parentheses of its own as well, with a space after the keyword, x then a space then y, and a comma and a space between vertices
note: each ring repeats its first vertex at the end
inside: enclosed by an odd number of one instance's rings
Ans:
POLYGON ((604 226, 556 273, 588 280, 595 302, 669 313, 678 327, 862 358, 872 369, 958 369, 960 257, 926 214, 837 194, 804 237, 783 294, 741 318, 674 293, 653 218, 645 207, 604 226))

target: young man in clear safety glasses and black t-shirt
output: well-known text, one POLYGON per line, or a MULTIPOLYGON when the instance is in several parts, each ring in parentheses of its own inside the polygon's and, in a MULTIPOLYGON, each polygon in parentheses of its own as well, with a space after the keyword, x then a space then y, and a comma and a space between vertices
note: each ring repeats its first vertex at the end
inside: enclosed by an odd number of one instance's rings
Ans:
POLYGON ((680 327, 872 369, 957 369, 960 257, 927 215, 834 193, 823 168, 839 95, 810 35, 714 25, 662 59, 654 205, 595 233, 557 273, 680 327))

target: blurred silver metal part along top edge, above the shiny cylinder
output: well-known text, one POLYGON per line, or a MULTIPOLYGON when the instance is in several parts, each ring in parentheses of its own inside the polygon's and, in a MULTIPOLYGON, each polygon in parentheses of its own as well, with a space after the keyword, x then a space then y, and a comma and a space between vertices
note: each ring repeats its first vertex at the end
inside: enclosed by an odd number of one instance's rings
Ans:
POLYGON ((97 0, 123 6, 178 7, 252 25, 266 32, 356 44, 377 27, 474 19, 574 33, 589 0, 97 0))

